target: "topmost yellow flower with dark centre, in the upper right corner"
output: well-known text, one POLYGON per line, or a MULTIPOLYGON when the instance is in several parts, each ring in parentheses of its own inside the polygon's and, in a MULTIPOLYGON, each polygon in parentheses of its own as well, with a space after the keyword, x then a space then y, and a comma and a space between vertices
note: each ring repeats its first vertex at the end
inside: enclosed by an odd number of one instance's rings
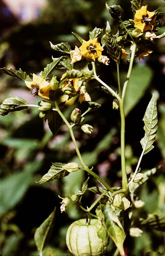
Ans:
POLYGON ((147 30, 152 31, 154 28, 154 23, 156 16, 154 12, 147 11, 147 5, 142 6, 140 10, 137 10, 135 13, 135 27, 145 32, 147 30))

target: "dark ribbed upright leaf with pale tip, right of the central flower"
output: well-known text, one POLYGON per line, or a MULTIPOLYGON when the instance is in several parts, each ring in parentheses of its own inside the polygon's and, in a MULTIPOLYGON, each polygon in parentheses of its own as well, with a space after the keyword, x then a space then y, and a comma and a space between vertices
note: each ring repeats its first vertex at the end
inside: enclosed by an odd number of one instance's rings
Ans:
POLYGON ((119 63, 122 55, 122 50, 121 47, 118 46, 116 37, 112 34, 109 22, 107 22, 107 27, 105 31, 105 42, 108 55, 110 55, 110 57, 115 60, 116 63, 119 63))

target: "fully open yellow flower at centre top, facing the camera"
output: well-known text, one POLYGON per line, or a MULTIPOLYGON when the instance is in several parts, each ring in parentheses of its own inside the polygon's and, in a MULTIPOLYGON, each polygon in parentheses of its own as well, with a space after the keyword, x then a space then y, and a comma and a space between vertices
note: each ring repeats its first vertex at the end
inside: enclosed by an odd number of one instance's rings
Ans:
POLYGON ((89 41, 83 40, 83 44, 80 46, 81 55, 87 59, 95 60, 101 56, 101 52, 104 50, 100 43, 98 43, 97 38, 91 39, 89 41))

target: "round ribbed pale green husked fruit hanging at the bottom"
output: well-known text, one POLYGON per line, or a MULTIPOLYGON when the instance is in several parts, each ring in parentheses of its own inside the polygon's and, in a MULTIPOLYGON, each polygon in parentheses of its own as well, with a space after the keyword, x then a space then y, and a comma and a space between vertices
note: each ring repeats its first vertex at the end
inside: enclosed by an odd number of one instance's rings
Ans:
POLYGON ((104 255, 109 243, 105 227, 98 219, 90 219, 89 224, 85 223, 86 219, 77 220, 68 228, 66 243, 69 251, 74 256, 104 255))

